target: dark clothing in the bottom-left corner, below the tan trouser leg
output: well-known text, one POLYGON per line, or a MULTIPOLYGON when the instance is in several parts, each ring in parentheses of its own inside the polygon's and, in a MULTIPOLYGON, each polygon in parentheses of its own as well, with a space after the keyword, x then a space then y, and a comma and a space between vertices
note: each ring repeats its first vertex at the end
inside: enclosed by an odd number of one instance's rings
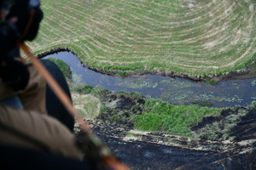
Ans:
POLYGON ((0 153, 0 169, 3 170, 93 170, 86 161, 9 145, 0 144, 0 153))

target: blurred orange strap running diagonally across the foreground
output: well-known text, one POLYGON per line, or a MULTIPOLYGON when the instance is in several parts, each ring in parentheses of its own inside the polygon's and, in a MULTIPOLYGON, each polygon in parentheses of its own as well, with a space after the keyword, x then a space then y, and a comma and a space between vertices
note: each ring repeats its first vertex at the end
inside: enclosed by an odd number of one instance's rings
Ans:
MULTIPOLYGON (((67 94, 61 88, 61 86, 49 74, 49 71, 47 71, 44 68, 44 65, 42 65, 36 57, 34 57, 31 51, 26 47, 26 44, 24 42, 19 43, 19 46, 24 51, 24 53, 27 54, 27 56, 32 60, 32 64, 38 69, 38 71, 44 77, 49 87, 54 91, 55 95, 61 100, 62 104, 66 107, 67 111, 69 111, 69 113, 76 118, 77 122, 79 122, 81 127, 84 129, 86 133, 88 133, 91 139, 93 134, 91 133, 90 127, 86 122, 84 122, 84 119, 81 116, 79 116, 77 111, 74 109, 71 99, 69 99, 67 94)), ((106 158, 105 163, 109 167, 112 167, 113 170, 129 170, 128 167, 126 167, 123 163, 117 161, 114 157, 106 158)))

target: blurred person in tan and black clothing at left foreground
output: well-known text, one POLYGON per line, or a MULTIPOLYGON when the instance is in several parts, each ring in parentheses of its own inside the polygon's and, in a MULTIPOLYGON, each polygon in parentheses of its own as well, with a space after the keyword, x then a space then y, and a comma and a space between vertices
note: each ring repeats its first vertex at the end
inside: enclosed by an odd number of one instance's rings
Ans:
POLYGON ((20 57, 18 43, 38 33, 40 2, 0 0, 0 8, 0 169, 91 169, 72 126, 48 115, 44 78, 20 57))

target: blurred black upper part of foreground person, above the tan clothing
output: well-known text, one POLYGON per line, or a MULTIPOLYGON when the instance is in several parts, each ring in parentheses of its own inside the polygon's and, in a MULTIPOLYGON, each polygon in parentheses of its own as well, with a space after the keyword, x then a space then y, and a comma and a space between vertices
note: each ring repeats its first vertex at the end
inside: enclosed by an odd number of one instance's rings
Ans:
POLYGON ((20 56, 18 43, 36 37, 43 12, 38 0, 0 0, 0 9, 0 77, 11 88, 24 89, 29 73, 15 59, 20 56))

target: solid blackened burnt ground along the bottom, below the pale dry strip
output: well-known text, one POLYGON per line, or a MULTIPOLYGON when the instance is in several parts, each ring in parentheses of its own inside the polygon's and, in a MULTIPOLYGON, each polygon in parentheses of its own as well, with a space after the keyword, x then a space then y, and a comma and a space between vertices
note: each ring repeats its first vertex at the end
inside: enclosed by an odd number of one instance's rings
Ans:
POLYGON ((131 169, 256 169, 256 150, 245 154, 240 153, 244 150, 241 147, 230 151, 193 150, 147 141, 125 142, 101 127, 94 132, 131 169))

